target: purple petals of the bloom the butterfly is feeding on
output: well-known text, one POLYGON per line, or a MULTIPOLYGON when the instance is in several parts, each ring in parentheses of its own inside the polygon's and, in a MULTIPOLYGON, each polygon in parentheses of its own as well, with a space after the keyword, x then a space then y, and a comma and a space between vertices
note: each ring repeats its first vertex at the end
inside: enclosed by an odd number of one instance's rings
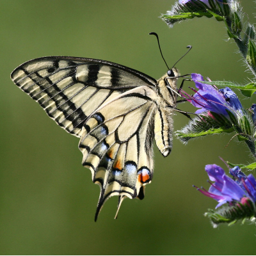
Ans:
MULTIPOLYGON (((224 89, 218 90, 216 86, 210 84, 204 84, 200 81, 204 81, 204 78, 200 74, 191 74, 193 81, 195 82, 196 88, 199 90, 195 95, 191 97, 188 93, 182 91, 182 96, 187 97, 187 100, 193 104, 196 108, 196 114, 203 112, 212 111, 219 115, 224 115, 228 117, 228 112, 232 112, 234 115, 244 115, 243 107, 241 102, 237 98, 236 93, 234 93, 230 88, 226 87, 224 89)), ((192 89, 193 90, 193 89, 192 89)))

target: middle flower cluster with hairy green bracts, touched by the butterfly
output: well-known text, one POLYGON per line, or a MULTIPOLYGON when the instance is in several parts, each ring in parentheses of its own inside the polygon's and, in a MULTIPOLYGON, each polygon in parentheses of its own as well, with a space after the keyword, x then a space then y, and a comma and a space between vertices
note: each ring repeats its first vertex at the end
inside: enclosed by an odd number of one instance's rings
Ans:
MULTIPOLYGON (((244 141, 256 157, 254 143, 256 105, 249 109, 252 115, 248 115, 236 93, 229 87, 226 86, 219 90, 214 85, 215 82, 205 82, 200 74, 193 73, 191 78, 198 88, 197 91, 191 88, 195 94, 189 95, 184 90, 179 90, 179 93, 198 108, 195 111, 197 117, 175 134, 182 142, 187 143, 191 138, 235 131, 238 140, 244 141)), ((222 86, 225 84, 227 82, 221 82, 222 86)))

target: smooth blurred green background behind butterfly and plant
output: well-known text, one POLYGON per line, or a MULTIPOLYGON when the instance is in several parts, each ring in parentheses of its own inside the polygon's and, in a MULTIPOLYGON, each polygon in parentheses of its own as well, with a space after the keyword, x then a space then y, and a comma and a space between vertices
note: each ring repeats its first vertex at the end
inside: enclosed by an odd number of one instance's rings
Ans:
MULTIPOLYGON (((241 2, 255 22, 253 1, 241 2)), ((95 223, 99 186, 81 165, 79 140, 10 80, 24 61, 49 55, 113 61, 158 79, 166 67, 156 38, 148 35, 155 31, 170 66, 186 45, 193 45, 177 65, 181 74, 198 72, 213 81, 244 83, 250 74, 235 53, 236 44, 227 42, 222 22, 194 19, 170 29, 159 16, 173 0, 0 3, 1 254, 255 254, 255 225, 212 228, 203 214, 216 202, 192 188, 209 188, 204 167, 216 163, 224 168, 219 156, 232 163, 252 161, 248 148, 236 139, 224 148, 234 134, 188 145, 174 139, 166 158, 155 147, 154 179, 145 199, 126 199, 114 220, 118 198, 110 198, 95 223)), ((249 108, 255 97, 241 99, 249 108)), ((195 111, 187 103, 179 108, 195 111)), ((177 130, 188 119, 177 113, 174 122, 177 130)))

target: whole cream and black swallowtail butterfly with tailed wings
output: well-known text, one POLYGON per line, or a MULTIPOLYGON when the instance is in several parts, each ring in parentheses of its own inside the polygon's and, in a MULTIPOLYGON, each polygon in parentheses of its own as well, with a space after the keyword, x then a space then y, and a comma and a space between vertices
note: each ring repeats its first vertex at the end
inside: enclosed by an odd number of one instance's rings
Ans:
POLYGON ((110 196, 119 198, 115 218, 124 198, 144 198, 153 177, 153 140, 164 157, 170 154, 177 77, 176 68, 156 81, 110 61, 65 56, 30 60, 11 74, 47 115, 80 138, 83 166, 100 186, 95 221, 110 196))

